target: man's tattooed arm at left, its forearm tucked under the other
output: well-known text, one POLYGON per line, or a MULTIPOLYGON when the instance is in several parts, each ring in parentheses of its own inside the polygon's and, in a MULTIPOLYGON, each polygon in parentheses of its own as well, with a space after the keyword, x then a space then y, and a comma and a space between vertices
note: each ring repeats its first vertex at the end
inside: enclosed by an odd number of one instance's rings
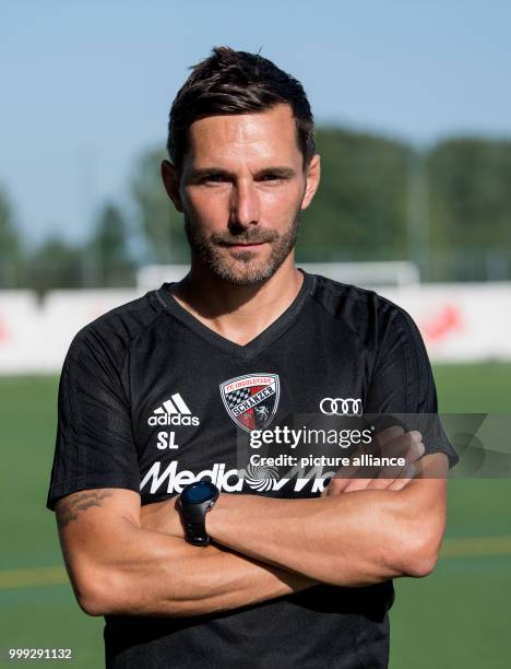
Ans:
POLYGON ((190 617, 237 609, 313 585, 223 547, 198 548, 166 527, 173 500, 143 525, 130 490, 82 491, 57 503, 62 553, 76 599, 90 615, 190 617))

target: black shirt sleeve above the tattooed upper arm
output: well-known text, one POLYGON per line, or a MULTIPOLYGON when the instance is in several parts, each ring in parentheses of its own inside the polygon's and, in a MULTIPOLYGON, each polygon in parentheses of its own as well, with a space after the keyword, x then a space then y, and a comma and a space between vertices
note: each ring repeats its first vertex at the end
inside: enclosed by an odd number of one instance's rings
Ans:
MULTIPOLYGON (((119 356, 117 356, 119 357, 119 356)), ((139 492, 140 470, 120 365, 97 336, 76 336, 59 385, 57 441, 46 506, 97 488, 139 492)))

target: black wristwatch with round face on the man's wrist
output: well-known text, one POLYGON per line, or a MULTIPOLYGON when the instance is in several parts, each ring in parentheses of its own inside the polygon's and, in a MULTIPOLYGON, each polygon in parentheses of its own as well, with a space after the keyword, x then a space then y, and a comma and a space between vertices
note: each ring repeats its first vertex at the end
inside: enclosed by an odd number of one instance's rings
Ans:
POLYGON ((211 539, 205 530, 205 515, 213 508, 219 490, 210 481, 195 481, 182 489, 179 510, 187 541, 193 545, 207 545, 211 539))

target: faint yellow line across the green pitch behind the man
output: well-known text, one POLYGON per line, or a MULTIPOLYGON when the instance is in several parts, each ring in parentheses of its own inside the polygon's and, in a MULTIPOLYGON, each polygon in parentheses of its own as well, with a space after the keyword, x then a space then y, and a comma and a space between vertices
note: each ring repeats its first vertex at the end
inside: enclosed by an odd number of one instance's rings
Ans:
MULTIPOLYGON (((491 558, 496 555, 511 555, 511 536, 445 539, 440 553, 441 559, 491 558)), ((69 584, 69 577, 62 566, 0 570, 0 589, 67 584, 69 584)))

